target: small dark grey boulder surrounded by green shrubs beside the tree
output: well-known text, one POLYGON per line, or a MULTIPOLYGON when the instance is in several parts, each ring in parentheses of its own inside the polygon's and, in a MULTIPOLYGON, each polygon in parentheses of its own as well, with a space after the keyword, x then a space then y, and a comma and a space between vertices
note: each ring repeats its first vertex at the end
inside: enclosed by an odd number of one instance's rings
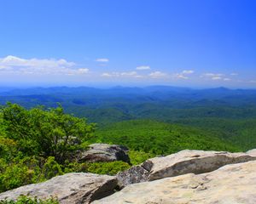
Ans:
POLYGON ((117 144, 90 144, 90 149, 82 152, 79 161, 125 161, 130 163, 125 146, 117 144))

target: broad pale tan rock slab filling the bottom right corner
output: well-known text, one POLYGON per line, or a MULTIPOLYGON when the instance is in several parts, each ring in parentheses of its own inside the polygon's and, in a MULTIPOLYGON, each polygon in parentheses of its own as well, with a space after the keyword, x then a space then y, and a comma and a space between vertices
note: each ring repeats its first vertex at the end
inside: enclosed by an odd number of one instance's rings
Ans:
POLYGON ((162 178, 93 201, 93 204, 255 204, 256 161, 221 167, 212 173, 162 178))

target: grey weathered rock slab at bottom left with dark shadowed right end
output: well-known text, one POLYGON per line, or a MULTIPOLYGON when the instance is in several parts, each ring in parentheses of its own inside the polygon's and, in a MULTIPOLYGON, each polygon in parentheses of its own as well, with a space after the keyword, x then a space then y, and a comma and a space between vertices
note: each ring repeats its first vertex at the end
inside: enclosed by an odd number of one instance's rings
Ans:
POLYGON ((90 203, 96 199, 111 195, 116 187, 115 177, 93 173, 67 173, 51 178, 40 184, 29 184, 0 194, 0 201, 7 198, 15 200, 19 195, 31 195, 38 198, 55 196, 61 204, 90 203))

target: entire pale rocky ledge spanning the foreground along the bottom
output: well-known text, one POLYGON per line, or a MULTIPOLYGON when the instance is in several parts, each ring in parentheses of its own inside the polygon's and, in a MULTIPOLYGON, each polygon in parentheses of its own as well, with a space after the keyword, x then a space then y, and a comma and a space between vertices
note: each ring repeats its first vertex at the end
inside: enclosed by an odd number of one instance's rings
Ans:
POLYGON ((52 195, 61 204, 255 204, 255 192, 256 150, 247 153, 183 150, 149 159, 116 177, 67 173, 41 184, 4 192, 0 200, 15 200, 19 195, 38 198, 52 195), (123 190, 114 193, 119 186, 123 190))

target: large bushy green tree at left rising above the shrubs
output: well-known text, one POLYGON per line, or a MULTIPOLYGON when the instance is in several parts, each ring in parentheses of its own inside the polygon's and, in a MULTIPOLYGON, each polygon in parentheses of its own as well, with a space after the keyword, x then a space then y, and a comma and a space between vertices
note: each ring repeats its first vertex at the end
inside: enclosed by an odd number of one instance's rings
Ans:
POLYGON ((15 140, 23 154, 55 156, 58 162, 65 161, 95 129, 84 119, 65 114, 61 106, 49 111, 43 107, 27 111, 9 103, 2 108, 1 115, 0 126, 4 127, 6 137, 15 140))

